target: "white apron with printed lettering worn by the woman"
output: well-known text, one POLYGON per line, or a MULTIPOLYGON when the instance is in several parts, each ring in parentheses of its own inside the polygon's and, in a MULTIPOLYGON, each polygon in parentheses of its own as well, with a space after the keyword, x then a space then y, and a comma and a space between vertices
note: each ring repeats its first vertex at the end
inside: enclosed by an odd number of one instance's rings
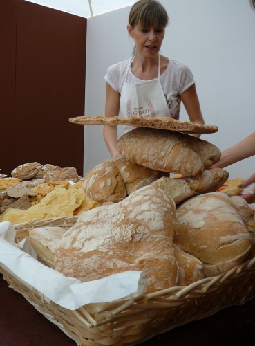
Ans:
MULTIPOLYGON (((139 84, 126 83, 131 62, 126 71, 121 90, 119 116, 122 118, 134 116, 154 116, 161 118, 170 116, 164 91, 160 83, 160 55, 158 55, 158 77, 154 80, 145 80, 139 84)), ((134 128, 132 126, 124 126, 124 132, 126 133, 134 128)))

